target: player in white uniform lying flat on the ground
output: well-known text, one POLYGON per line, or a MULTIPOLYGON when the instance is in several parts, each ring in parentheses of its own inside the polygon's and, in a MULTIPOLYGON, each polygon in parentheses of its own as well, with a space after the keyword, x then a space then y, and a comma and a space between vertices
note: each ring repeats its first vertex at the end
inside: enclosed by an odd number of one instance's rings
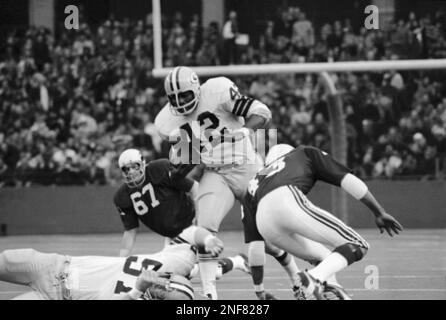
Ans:
MULTIPOLYGON (((187 279, 197 262, 189 244, 130 257, 68 256, 33 249, 0 253, 0 281, 29 286, 19 300, 191 300, 187 279)), ((222 273, 233 267, 222 258, 222 273)))

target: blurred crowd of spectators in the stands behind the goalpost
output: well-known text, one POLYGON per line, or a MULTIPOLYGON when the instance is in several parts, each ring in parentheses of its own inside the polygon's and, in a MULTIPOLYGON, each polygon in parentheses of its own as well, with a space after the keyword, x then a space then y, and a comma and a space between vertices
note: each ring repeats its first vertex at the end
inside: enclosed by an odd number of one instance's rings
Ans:
MULTIPOLYGON (((380 30, 349 21, 313 26, 290 7, 249 43, 235 43, 237 15, 202 28, 180 13, 163 28, 164 64, 219 65, 446 57, 440 13, 411 13, 380 30), (229 23, 228 23, 229 22, 229 23), (231 43, 234 41, 234 43, 231 43)), ((166 156, 153 119, 166 103, 151 75, 147 21, 107 20, 57 36, 30 27, 0 48, 0 186, 116 184, 117 155, 133 145, 166 156)), ((432 177, 446 155, 446 73, 339 73, 348 132, 348 165, 362 178, 432 177)), ((204 80, 204 79, 202 79, 204 80)), ((232 78, 265 102, 278 142, 330 151, 327 97, 315 75, 232 78)))

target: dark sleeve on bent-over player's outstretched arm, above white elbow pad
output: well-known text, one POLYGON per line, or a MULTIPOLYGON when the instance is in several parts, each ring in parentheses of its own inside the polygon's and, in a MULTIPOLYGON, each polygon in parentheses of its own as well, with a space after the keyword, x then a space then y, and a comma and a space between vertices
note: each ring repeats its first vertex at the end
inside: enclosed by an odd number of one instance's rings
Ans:
POLYGON ((341 186, 341 181, 351 170, 333 159, 328 153, 313 147, 305 149, 310 158, 316 178, 332 185, 341 186))

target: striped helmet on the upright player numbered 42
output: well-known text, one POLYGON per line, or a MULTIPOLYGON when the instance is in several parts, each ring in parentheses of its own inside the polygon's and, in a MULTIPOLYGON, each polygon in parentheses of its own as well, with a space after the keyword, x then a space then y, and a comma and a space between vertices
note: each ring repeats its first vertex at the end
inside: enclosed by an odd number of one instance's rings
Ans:
POLYGON ((176 116, 193 112, 200 100, 200 81, 189 67, 173 69, 164 80, 164 90, 176 116))

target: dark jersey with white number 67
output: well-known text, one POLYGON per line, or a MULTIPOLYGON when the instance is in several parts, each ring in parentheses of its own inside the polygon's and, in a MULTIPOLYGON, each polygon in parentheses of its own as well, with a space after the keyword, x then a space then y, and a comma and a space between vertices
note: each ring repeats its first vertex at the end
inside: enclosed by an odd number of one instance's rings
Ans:
POLYGON ((195 217, 193 202, 186 194, 192 185, 192 180, 178 175, 169 160, 151 161, 141 186, 124 184, 115 194, 125 230, 137 228, 141 221, 162 236, 177 236, 195 217))

